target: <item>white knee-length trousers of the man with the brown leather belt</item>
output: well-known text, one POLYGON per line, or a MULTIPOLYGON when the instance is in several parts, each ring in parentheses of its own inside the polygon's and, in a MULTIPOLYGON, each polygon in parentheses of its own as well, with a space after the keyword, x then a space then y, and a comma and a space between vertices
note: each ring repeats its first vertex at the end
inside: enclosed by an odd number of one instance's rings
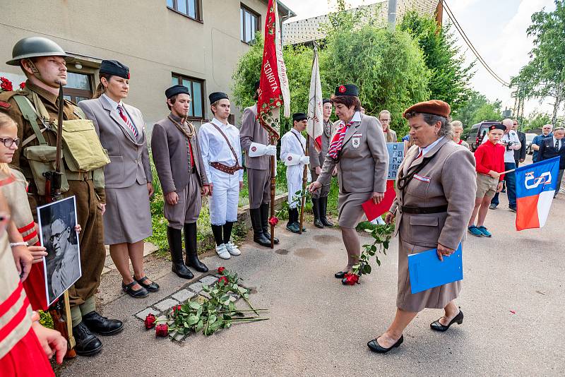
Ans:
POLYGON ((227 221, 237 221, 239 204, 239 174, 227 174, 210 167, 214 188, 208 202, 212 225, 224 225, 227 221))

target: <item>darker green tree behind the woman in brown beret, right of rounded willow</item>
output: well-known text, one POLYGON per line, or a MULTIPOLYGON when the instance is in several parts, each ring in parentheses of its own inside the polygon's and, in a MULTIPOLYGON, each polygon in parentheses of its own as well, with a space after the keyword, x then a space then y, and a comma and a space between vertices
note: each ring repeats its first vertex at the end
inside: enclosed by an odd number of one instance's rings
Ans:
POLYGON ((430 16, 420 16, 416 11, 405 14, 399 30, 410 33, 424 52, 426 66, 432 73, 429 90, 432 98, 451 105, 456 114, 465 107, 471 95, 469 86, 475 62, 465 65, 465 56, 455 43, 451 23, 438 27, 430 16))

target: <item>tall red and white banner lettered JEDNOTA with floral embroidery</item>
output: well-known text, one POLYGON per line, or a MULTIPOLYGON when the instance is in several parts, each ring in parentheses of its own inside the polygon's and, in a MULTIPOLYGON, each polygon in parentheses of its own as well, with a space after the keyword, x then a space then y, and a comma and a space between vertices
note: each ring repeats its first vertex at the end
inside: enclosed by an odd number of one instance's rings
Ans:
POLYGON ((265 18, 265 47, 261 64, 261 83, 257 101, 257 117, 271 138, 280 138, 280 107, 290 116, 290 90, 287 68, 283 59, 277 1, 269 0, 265 18))

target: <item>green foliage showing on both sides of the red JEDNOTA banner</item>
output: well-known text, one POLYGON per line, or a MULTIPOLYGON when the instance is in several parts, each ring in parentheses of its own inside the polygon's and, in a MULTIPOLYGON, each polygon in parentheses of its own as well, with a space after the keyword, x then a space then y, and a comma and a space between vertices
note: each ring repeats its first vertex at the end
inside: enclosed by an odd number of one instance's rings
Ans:
MULTIPOLYGON (((254 85, 261 76, 263 61, 263 42, 261 35, 256 36, 254 44, 239 59, 232 76, 234 104, 243 109, 255 103, 254 85)), ((307 112, 310 92, 310 76, 314 52, 304 46, 286 46, 283 49, 287 76, 290 86, 290 112, 307 112)), ((323 75, 322 75, 323 76, 323 75)), ((280 136, 292 127, 292 118, 285 119, 281 112, 280 136)))

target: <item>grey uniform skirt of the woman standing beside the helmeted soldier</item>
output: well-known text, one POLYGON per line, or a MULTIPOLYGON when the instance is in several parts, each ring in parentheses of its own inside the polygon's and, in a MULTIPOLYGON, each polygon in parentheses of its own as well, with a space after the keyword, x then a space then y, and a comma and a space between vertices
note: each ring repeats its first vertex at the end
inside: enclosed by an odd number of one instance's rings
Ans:
POLYGON ((107 245, 133 244, 150 237, 151 213, 147 184, 106 188, 104 241, 107 245))

